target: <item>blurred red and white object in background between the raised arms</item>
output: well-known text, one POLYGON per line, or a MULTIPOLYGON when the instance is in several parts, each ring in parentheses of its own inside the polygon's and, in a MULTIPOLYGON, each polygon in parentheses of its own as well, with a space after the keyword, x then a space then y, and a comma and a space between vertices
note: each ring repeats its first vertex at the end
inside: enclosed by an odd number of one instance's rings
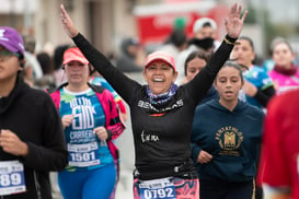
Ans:
POLYGON ((225 34, 223 19, 229 8, 216 4, 214 1, 166 0, 168 3, 142 5, 135 9, 138 36, 143 45, 161 44, 171 34, 177 17, 185 20, 185 33, 193 36, 193 24, 199 17, 211 17, 218 25, 218 36, 225 34), (180 1, 172 3, 173 1, 180 1))

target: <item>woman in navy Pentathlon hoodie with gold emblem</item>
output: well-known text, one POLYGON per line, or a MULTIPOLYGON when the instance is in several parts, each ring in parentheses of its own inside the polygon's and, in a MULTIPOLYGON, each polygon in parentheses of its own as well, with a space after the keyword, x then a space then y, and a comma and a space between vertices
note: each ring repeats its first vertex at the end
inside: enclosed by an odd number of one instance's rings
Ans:
POLYGON ((200 199, 251 199, 264 114, 239 101, 241 67, 226 62, 215 80, 219 101, 195 112, 192 156, 199 175, 200 199))

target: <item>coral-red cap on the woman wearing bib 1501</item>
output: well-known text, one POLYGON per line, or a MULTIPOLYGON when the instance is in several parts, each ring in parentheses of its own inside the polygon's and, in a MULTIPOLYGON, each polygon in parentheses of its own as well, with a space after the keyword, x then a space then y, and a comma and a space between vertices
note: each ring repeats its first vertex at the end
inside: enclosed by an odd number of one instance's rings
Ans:
POLYGON ((64 63, 67 65, 71 61, 79 61, 83 65, 89 65, 89 60, 84 57, 78 47, 69 48, 64 54, 64 63))

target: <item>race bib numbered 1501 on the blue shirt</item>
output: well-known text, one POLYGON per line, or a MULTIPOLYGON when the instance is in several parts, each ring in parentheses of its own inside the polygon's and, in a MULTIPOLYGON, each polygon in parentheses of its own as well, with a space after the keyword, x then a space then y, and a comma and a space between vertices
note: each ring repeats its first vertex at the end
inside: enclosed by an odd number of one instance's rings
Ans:
POLYGON ((97 143, 68 144, 69 165, 78 167, 94 166, 100 164, 97 143))

